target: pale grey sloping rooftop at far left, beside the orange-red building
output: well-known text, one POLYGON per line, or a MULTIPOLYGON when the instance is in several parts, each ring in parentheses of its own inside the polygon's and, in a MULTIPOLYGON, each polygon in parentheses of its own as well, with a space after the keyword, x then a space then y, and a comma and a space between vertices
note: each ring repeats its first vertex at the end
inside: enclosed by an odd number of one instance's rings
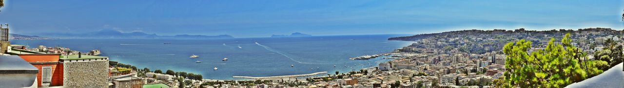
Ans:
POLYGON ((0 56, 0 74, 37 74, 39 69, 19 56, 0 56))

